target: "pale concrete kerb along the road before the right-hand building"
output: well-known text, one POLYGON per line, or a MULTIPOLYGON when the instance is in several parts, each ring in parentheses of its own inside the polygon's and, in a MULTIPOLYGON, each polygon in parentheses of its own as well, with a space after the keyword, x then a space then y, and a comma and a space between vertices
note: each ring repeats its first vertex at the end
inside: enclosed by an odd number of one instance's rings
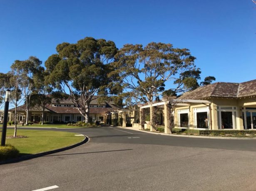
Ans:
POLYGON ((204 136, 204 135, 174 135, 174 134, 165 134, 165 133, 159 133, 159 132, 150 132, 145 130, 138 130, 133 127, 122 127, 124 129, 134 130, 134 131, 140 131, 140 132, 146 132, 151 133, 155 135, 167 135, 167 136, 174 136, 174 137, 191 137, 191 138, 204 138, 204 139, 239 139, 239 140, 248 140, 248 139, 256 139, 256 137, 218 137, 218 136, 204 136))

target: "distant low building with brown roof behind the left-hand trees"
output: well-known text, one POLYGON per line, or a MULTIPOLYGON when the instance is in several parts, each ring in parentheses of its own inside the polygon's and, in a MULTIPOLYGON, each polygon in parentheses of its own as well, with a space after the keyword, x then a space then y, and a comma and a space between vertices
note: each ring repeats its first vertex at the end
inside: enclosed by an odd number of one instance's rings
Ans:
MULTIPOLYGON (((94 96, 94 99, 90 103, 89 108, 89 120, 90 122, 100 121, 106 122, 107 113, 112 110, 120 109, 112 101, 104 101, 104 103, 98 103, 98 96, 94 96)), ((14 108, 9 110, 14 113, 14 108)), ((18 122, 25 122, 26 119, 26 105, 21 105, 17 108, 17 120, 18 122)), ((39 106, 31 107, 28 115, 28 119, 31 122, 38 123, 42 121, 42 108, 39 106)), ((84 117, 80 114, 79 110, 75 107, 74 103, 70 99, 56 100, 53 99, 52 103, 47 105, 44 113, 44 121, 57 123, 57 122, 77 122, 84 121, 84 117)))

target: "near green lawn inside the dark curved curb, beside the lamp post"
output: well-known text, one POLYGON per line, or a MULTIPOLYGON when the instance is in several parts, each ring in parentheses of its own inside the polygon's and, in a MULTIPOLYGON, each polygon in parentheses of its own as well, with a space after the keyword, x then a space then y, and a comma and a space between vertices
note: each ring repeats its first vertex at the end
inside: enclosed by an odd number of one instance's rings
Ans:
MULTIPOLYGON (((13 131, 13 129, 7 129, 7 136, 12 136, 13 131)), ((15 146, 21 155, 34 154, 66 147, 81 142, 85 138, 83 136, 75 136, 75 134, 71 132, 23 130, 18 128, 17 135, 25 135, 27 138, 6 139, 6 144, 15 146)), ((1 132, 0 137, 2 137, 1 132)))

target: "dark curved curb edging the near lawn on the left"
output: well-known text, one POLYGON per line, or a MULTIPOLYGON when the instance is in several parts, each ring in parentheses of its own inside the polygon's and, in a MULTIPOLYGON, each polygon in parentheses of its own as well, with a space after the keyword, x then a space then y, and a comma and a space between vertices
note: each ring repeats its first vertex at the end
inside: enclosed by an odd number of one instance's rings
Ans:
MULTIPOLYGON (((79 133, 77 133, 77 134, 79 134, 79 133)), ((79 134, 79 135, 82 135, 82 134, 79 134)), ((65 151, 65 150, 68 150, 68 149, 78 147, 82 144, 85 144, 85 143, 89 142, 89 137, 87 137, 85 135, 83 135, 83 136, 85 137, 84 140, 82 140, 81 142, 72 144, 70 146, 62 147, 62 148, 55 149, 55 150, 40 152, 40 153, 36 153, 36 154, 28 154, 28 155, 25 155, 25 156, 22 156, 22 157, 17 157, 15 159, 7 159, 5 161, 0 162, 0 164, 8 164, 8 163, 15 163, 15 162, 20 162, 20 161, 25 161, 25 160, 28 160, 28 159, 42 157, 42 156, 47 155, 47 154, 53 154, 53 153, 56 153, 56 152, 61 152, 61 151, 65 151)))

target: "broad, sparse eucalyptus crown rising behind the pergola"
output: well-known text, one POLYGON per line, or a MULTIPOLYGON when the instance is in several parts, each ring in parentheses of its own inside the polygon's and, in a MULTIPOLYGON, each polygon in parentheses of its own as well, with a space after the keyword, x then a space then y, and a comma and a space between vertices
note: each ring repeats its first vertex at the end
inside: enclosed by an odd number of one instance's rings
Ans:
POLYGON ((176 95, 199 86, 200 69, 189 49, 174 48, 172 44, 149 43, 125 44, 112 63, 114 71, 109 76, 118 76, 115 84, 122 87, 119 94, 128 105, 152 102, 165 91, 167 81, 172 88, 167 93, 176 95))

